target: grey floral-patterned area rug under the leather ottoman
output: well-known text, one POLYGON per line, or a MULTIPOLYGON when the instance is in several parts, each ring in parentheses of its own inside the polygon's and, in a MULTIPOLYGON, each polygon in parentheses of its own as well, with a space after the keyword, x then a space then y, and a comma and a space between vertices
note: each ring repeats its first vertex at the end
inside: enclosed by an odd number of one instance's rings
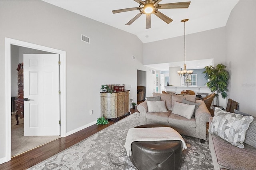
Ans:
MULTIPOLYGON (((126 154, 124 143, 128 129, 138 125, 140 113, 134 113, 30 170, 136 170, 126 154)), ((188 148, 182 152, 180 169, 214 170, 209 140, 201 144, 198 138, 182 137, 188 148)))

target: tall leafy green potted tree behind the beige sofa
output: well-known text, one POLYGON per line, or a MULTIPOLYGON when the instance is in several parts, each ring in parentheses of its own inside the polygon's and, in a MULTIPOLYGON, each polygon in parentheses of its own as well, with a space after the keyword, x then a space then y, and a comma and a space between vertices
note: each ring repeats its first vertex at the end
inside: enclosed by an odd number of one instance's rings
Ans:
POLYGON ((228 91, 228 80, 230 79, 229 73, 226 70, 224 64, 218 64, 216 67, 212 65, 204 67, 205 71, 202 73, 205 75, 205 78, 208 80, 206 86, 216 93, 216 107, 219 106, 219 93, 222 95, 223 99, 227 97, 228 91))

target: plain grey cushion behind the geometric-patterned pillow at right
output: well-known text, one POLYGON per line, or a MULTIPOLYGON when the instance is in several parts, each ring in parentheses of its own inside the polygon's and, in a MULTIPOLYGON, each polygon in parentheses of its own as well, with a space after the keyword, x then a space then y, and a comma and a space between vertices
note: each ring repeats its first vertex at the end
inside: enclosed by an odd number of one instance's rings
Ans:
MULTIPOLYGON (((247 113, 242 113, 240 111, 237 111, 236 109, 234 111, 235 111, 236 114, 249 116, 247 113)), ((244 143, 247 143, 247 144, 253 146, 254 148, 256 148, 256 117, 254 117, 250 126, 246 130, 244 143)))

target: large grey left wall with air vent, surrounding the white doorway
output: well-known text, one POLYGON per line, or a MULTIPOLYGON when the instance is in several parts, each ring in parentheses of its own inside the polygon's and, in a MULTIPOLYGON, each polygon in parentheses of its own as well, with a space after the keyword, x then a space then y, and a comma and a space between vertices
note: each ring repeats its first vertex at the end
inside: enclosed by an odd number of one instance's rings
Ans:
POLYGON ((6 37, 66 51, 67 132, 100 117, 101 85, 131 85, 130 95, 136 96, 137 70, 149 69, 142 65, 137 36, 40 0, 0 0, 0 31, 0 161, 6 154, 6 37), (81 34, 90 37, 90 44, 80 40, 81 34))

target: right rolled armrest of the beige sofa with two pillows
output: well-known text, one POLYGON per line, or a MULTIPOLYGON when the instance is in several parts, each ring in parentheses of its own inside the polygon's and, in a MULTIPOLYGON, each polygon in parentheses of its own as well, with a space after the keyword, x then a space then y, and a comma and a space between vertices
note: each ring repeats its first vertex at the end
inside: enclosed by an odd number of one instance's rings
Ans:
POLYGON ((211 114, 207 109, 204 101, 196 100, 196 103, 200 103, 198 109, 195 112, 196 118, 196 133, 200 136, 200 139, 206 140, 206 123, 210 121, 211 114))

